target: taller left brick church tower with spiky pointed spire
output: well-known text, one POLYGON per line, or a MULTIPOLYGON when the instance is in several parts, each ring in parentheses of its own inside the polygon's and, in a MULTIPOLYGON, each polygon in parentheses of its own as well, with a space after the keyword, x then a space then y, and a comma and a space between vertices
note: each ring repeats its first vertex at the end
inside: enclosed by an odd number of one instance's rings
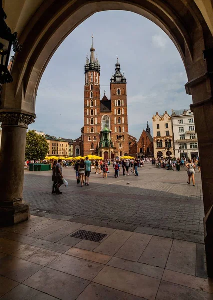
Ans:
POLYGON ((100 64, 92 44, 90 60, 86 57, 84 85, 83 155, 97 155, 100 132, 100 64))

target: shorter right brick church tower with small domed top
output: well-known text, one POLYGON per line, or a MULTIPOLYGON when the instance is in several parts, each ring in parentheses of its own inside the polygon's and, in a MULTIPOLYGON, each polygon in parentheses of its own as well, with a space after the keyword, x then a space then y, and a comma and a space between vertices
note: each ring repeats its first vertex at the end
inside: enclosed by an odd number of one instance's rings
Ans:
POLYGON ((110 84, 112 141, 116 148, 115 156, 124 156, 129 153, 126 85, 126 78, 120 72, 120 63, 117 58, 115 74, 112 75, 110 84))

